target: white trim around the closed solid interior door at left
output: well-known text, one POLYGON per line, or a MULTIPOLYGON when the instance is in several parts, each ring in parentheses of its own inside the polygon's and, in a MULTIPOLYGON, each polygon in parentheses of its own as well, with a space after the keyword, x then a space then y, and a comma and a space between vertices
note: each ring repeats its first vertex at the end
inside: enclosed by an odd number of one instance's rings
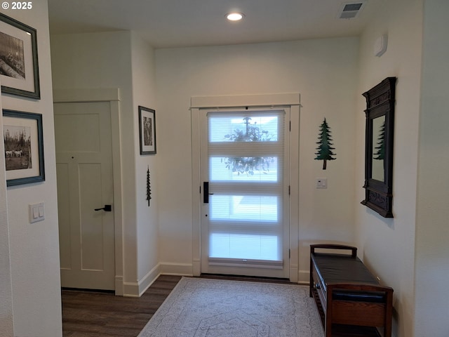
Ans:
POLYGON ((123 212, 120 152, 120 91, 105 89, 55 89, 54 103, 109 102, 111 108, 112 169, 114 175, 115 294, 123 296, 123 212))

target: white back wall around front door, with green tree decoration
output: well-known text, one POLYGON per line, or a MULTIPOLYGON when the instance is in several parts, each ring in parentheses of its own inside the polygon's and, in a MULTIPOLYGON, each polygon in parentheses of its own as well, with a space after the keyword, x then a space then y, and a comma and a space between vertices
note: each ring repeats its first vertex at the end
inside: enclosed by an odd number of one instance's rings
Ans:
MULTIPOLYGON (((300 93, 300 281, 311 242, 354 242, 354 136, 358 39, 156 50, 161 264, 192 272, 190 98, 300 93), (336 160, 314 160, 330 125, 336 160), (327 190, 314 188, 328 178, 327 190)), ((297 146, 297 145, 296 145, 297 146)))

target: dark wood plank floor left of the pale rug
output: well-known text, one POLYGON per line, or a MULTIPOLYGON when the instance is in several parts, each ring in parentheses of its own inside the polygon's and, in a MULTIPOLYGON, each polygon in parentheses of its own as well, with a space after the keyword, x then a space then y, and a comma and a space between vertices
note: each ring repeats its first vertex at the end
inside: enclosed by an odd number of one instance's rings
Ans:
POLYGON ((62 336, 138 336, 180 279, 162 275, 140 298, 62 290, 62 336))

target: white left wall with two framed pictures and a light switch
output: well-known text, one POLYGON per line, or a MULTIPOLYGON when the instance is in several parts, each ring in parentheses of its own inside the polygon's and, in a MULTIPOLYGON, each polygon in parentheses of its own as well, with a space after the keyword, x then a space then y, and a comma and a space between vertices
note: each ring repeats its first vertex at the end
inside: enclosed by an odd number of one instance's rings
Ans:
MULTIPOLYGON (((2 12, 5 13, 5 12, 2 12)), ((41 99, 30 100, 13 95, 3 95, 4 109, 36 112, 43 115, 43 147, 46 181, 28 185, 8 187, 9 251, 11 258, 13 328, 8 329, 11 319, 11 305, 6 298, 6 332, 1 336, 56 337, 62 336, 58 209, 56 197, 55 143, 53 128, 53 96, 51 91, 50 39, 48 34, 48 8, 46 0, 33 2, 32 10, 8 11, 11 17, 36 28, 39 52, 39 76, 41 99), (28 204, 43 202, 45 220, 30 224, 28 204), (10 310, 8 310, 8 308, 10 310), (45 310, 42 310, 45 308, 45 310)), ((1 170, 3 172, 3 170, 1 170)), ((3 176, 3 173, 2 173, 3 176)), ((0 199, 4 196, 1 184, 0 199)), ((4 201, 1 199, 0 201, 4 201)), ((3 202, 2 205, 6 205, 3 202)), ((6 234, 4 206, 0 208, 1 230, 6 234)), ((2 237, 2 249, 7 242, 2 237)), ((4 279, 2 253, 1 289, 8 288, 4 279)), ((6 267, 6 275, 8 268, 6 267)), ((9 284, 11 286, 11 283, 9 284)), ((2 290, 3 291, 3 290, 2 290)), ((3 308, 4 303, 1 306, 3 308)), ((3 315, 2 322, 3 325, 3 315)))

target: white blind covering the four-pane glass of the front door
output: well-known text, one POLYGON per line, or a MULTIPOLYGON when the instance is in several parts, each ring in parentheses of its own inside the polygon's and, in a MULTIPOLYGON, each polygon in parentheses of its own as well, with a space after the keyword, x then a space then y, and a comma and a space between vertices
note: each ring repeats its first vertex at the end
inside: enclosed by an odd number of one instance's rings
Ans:
POLYGON ((282 267, 284 114, 207 114, 210 264, 282 267))

